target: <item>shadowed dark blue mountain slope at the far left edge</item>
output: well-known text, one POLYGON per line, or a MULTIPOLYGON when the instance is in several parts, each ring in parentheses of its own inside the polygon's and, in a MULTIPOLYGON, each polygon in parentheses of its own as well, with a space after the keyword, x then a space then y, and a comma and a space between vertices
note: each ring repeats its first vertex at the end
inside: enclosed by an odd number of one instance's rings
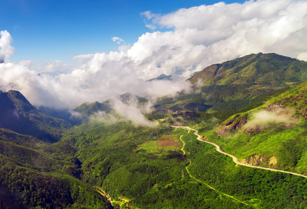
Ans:
POLYGON ((18 91, 0 91, 0 127, 43 141, 58 141, 70 124, 43 114, 18 91))

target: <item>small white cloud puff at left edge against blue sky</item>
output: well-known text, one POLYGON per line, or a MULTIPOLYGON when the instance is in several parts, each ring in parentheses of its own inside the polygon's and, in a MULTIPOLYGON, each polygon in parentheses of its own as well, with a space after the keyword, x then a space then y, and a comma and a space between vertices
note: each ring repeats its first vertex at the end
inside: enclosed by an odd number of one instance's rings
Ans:
POLYGON ((10 45, 12 37, 8 31, 0 31, 0 36, 0 63, 3 63, 4 59, 15 53, 15 49, 10 45))

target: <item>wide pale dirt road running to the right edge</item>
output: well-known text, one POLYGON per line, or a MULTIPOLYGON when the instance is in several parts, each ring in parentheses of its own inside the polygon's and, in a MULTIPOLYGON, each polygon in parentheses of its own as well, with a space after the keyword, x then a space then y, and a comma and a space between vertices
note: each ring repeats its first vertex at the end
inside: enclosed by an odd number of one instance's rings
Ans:
POLYGON ((193 130, 195 131, 194 134, 197 136, 197 140, 198 141, 202 141, 202 142, 205 142, 205 143, 208 143, 208 144, 212 144, 214 146, 216 146, 216 150, 219 152, 219 153, 222 153, 224 155, 227 155, 227 156, 230 156, 232 157, 232 160, 236 163, 236 164, 239 164, 241 166, 244 166, 244 167, 251 167, 251 168, 255 168, 255 169, 264 169, 264 170, 269 170, 269 171, 277 171, 277 172, 281 172, 281 173, 290 173, 292 175, 296 175, 296 176, 301 176, 301 177, 304 177, 304 178, 307 178, 307 176, 305 175, 302 175, 302 174, 299 174, 299 173, 294 173, 294 172, 291 172, 291 171, 282 171, 282 170, 278 170, 278 169, 269 169, 269 168, 264 168, 264 167, 256 167, 256 166, 253 166, 253 165, 249 165, 249 164, 244 164, 244 163, 241 163, 238 161, 237 157, 235 157, 234 155, 230 155, 229 153, 225 153, 223 152, 222 150, 220 150, 220 146, 218 146, 217 144, 214 144, 213 142, 210 142, 210 141, 204 141, 202 140, 202 136, 200 136, 200 134, 198 134, 198 131, 191 128, 191 127, 188 127, 188 126, 172 126, 172 127, 180 127, 180 128, 185 128, 187 130, 193 130))

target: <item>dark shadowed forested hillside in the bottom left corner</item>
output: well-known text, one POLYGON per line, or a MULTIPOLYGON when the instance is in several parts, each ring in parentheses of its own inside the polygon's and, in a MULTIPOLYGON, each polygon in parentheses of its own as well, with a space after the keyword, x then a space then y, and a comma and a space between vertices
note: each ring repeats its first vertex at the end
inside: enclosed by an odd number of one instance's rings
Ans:
POLYGON ((7 208, 111 208, 95 188, 80 180, 80 161, 74 153, 68 144, 47 144, 1 130, 1 200, 7 208))

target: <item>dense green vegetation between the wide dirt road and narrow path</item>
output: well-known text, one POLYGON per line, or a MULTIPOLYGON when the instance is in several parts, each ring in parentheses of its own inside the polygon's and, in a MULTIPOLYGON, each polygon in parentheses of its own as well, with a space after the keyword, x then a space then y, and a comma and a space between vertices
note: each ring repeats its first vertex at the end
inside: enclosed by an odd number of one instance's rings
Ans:
POLYGON ((287 173, 242 167, 214 146, 187 141, 194 153, 190 171, 196 178, 221 192, 237 196, 253 208, 305 208, 307 179, 287 173), (197 150, 197 151, 195 151, 197 150))

